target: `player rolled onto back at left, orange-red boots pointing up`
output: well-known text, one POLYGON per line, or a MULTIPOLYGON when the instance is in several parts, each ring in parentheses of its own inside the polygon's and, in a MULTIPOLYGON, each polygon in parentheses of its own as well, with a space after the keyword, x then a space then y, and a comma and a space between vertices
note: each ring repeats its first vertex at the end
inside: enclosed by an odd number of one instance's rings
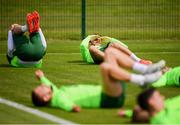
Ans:
POLYGON ((37 11, 27 14, 27 24, 13 24, 8 32, 7 59, 15 67, 41 67, 46 40, 39 28, 37 11), (29 38, 24 35, 29 30, 29 38))

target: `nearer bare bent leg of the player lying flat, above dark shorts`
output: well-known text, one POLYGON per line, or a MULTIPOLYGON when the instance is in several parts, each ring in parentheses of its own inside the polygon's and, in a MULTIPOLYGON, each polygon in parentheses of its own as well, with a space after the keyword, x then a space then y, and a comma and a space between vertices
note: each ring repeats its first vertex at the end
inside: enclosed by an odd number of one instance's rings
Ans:
POLYGON ((106 62, 100 65, 103 78, 103 92, 109 96, 118 97, 122 94, 122 86, 120 80, 129 81, 130 74, 117 65, 108 64, 106 62))

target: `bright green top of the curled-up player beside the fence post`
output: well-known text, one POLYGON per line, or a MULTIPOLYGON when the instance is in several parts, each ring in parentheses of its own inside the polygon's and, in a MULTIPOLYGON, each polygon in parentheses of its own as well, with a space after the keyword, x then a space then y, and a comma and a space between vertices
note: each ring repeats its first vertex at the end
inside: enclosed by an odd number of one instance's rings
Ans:
MULTIPOLYGON (((80 44, 80 52, 82 55, 82 58, 84 61, 88 62, 88 63, 94 63, 91 54, 89 52, 89 41, 99 38, 99 35, 89 35, 87 36, 82 43, 80 44)), ((96 46, 99 50, 103 51, 108 47, 109 43, 112 42, 116 42, 119 43, 121 45, 123 45, 124 47, 128 48, 127 45, 125 45, 124 43, 122 43, 121 41, 115 39, 115 38, 111 38, 111 37, 107 37, 107 36, 103 36, 102 38, 102 42, 100 46, 96 46)))

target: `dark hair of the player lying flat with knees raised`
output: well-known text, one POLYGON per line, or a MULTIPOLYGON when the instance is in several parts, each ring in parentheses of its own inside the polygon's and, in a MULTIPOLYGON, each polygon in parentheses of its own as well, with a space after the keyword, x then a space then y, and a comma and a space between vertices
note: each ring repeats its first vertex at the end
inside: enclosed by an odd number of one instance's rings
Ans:
POLYGON ((43 101, 37 94, 35 91, 32 91, 31 93, 31 98, 32 98, 32 102, 35 106, 45 106, 47 105, 49 102, 45 102, 43 101))

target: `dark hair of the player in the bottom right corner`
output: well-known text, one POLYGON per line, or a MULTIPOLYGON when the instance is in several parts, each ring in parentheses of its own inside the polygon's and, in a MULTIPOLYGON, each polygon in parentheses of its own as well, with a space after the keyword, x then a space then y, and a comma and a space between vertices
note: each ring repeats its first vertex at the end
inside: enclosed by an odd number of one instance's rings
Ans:
POLYGON ((141 92, 137 98, 139 106, 144 110, 150 110, 150 105, 148 103, 150 97, 153 95, 155 88, 149 88, 141 92))

